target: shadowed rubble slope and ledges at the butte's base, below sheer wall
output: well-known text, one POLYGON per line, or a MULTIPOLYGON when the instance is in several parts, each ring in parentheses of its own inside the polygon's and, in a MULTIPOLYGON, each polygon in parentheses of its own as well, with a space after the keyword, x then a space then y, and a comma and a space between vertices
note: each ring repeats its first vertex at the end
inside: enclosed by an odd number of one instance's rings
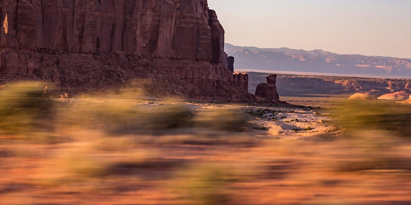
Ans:
POLYGON ((248 94, 248 75, 233 74, 222 66, 190 60, 148 58, 123 52, 65 54, 30 52, 30 59, 18 58, 21 51, 5 49, 10 65, 36 65, 22 70, 3 67, 0 84, 22 79, 50 82, 56 94, 104 92, 107 89, 141 87, 156 97, 180 96, 192 99, 253 101, 248 94), (14 61, 17 61, 14 64, 14 61), (25 74, 19 74, 25 73, 25 74))

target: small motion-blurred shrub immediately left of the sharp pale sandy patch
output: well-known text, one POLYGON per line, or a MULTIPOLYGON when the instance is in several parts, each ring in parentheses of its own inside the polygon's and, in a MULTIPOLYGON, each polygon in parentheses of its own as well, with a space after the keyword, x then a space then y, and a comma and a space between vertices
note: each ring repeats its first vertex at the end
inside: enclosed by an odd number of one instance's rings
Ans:
POLYGON ((199 111, 196 126, 222 131, 244 131, 248 127, 248 115, 231 108, 215 108, 199 111))

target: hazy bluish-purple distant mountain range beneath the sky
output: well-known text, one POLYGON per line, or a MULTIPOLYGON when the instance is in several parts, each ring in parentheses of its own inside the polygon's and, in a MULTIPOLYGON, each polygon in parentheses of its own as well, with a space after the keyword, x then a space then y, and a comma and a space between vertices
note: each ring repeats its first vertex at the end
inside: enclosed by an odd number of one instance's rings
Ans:
POLYGON ((408 58, 341 55, 323 50, 240 47, 231 44, 225 44, 225 51, 235 57, 236 69, 309 72, 319 75, 411 77, 411 59, 408 58))

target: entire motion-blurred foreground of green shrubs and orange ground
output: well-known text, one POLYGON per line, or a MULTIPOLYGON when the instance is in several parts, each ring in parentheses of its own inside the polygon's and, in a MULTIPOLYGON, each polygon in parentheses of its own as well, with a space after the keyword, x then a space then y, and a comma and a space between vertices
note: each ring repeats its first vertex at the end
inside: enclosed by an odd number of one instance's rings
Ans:
POLYGON ((45 86, 0 90, 0 204, 411 203, 408 106, 349 101, 346 137, 255 140, 238 107, 45 86))

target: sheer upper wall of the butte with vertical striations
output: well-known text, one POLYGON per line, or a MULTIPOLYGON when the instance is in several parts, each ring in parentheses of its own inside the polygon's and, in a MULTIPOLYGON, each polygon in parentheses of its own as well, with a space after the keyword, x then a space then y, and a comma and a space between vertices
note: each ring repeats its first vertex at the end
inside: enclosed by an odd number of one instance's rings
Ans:
POLYGON ((2 1, 1 12, 9 28, 8 35, 2 29, 2 48, 122 51, 213 63, 225 55, 224 30, 205 0, 11 0, 2 1))

